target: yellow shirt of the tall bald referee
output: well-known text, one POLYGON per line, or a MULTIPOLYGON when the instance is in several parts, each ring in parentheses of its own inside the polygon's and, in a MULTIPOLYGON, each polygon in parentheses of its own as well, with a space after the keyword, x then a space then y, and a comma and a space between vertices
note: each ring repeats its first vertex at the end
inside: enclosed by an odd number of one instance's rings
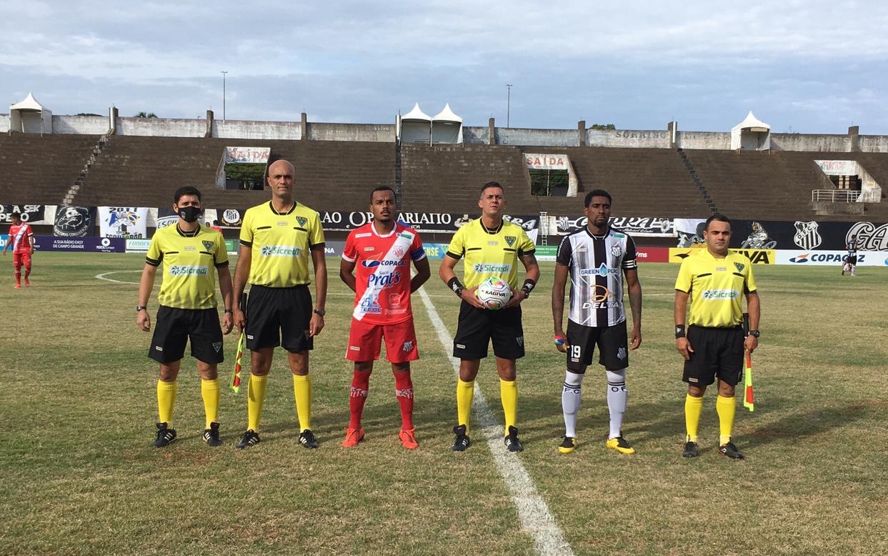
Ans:
POLYGON ((251 249, 251 284, 269 288, 310 284, 311 251, 324 247, 321 217, 299 203, 287 212, 274 210, 271 201, 262 203, 244 213, 241 244, 251 249))

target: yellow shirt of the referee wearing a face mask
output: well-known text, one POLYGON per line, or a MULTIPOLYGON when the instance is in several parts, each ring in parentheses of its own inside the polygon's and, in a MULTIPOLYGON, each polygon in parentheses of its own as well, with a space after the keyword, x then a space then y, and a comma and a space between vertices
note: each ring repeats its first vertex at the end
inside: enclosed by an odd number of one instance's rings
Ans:
MULTIPOLYGON (((177 309, 216 307, 216 268, 228 266, 228 253, 222 234, 200 226, 183 232, 178 225, 155 232, 145 262, 163 263, 161 290, 157 302, 177 309)), ((226 271, 227 272, 227 271, 226 271)))

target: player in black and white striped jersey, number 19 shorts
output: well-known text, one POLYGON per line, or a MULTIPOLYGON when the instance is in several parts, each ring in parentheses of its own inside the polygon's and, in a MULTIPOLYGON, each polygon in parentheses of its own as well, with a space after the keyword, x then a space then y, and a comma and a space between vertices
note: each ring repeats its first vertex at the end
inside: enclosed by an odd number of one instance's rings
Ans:
POLYGON ((559 445, 562 454, 576 449, 580 386, 596 345, 599 346, 599 363, 607 371, 607 407, 610 410, 607 448, 622 454, 635 453, 622 437, 621 429, 628 397, 626 369, 629 367, 629 352, 641 345, 641 283, 638 282, 635 242, 630 235, 608 225, 611 202, 607 191, 595 189, 589 192, 583 209, 588 224, 561 240, 555 258, 552 286, 555 345, 560 352, 567 353, 567 375, 561 394, 565 424, 564 441, 559 445), (630 336, 622 303, 623 274, 632 312, 630 336), (568 275, 571 290, 566 336, 562 324, 568 275))

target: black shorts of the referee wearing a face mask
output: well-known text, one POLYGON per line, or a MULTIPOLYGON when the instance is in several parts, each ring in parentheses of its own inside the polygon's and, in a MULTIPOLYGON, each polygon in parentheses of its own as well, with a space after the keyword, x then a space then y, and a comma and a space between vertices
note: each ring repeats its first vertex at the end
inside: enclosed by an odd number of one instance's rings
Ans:
POLYGON ((225 361, 222 350, 222 328, 216 309, 176 309, 161 306, 157 310, 155 333, 148 357, 170 364, 185 356, 185 345, 191 338, 191 356, 204 363, 225 361))

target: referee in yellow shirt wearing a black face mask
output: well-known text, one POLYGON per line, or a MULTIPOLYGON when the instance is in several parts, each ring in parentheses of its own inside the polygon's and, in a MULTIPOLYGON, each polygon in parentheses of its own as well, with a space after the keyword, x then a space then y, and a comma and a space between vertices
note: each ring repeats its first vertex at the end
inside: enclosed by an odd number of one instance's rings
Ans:
POLYGON ((139 330, 151 330, 148 298, 155 285, 157 267, 163 264, 161 290, 157 294, 160 308, 148 352, 148 357, 161 366, 161 377, 157 381, 160 422, 157 423, 154 446, 163 448, 176 440, 176 429, 172 427, 173 406, 178 390, 178 369, 188 338, 191 338, 191 355, 197 360, 201 375, 201 397, 206 416, 203 440, 210 446, 219 446, 222 441, 219 440, 218 424, 218 363, 225 357, 214 274, 218 274, 219 290, 225 303, 222 326, 227 334, 232 329, 234 300, 228 254, 222 234, 198 222, 203 210, 201 192, 197 188, 178 188, 173 195, 172 209, 178 214, 176 224, 158 229, 151 238, 136 306, 139 330))

